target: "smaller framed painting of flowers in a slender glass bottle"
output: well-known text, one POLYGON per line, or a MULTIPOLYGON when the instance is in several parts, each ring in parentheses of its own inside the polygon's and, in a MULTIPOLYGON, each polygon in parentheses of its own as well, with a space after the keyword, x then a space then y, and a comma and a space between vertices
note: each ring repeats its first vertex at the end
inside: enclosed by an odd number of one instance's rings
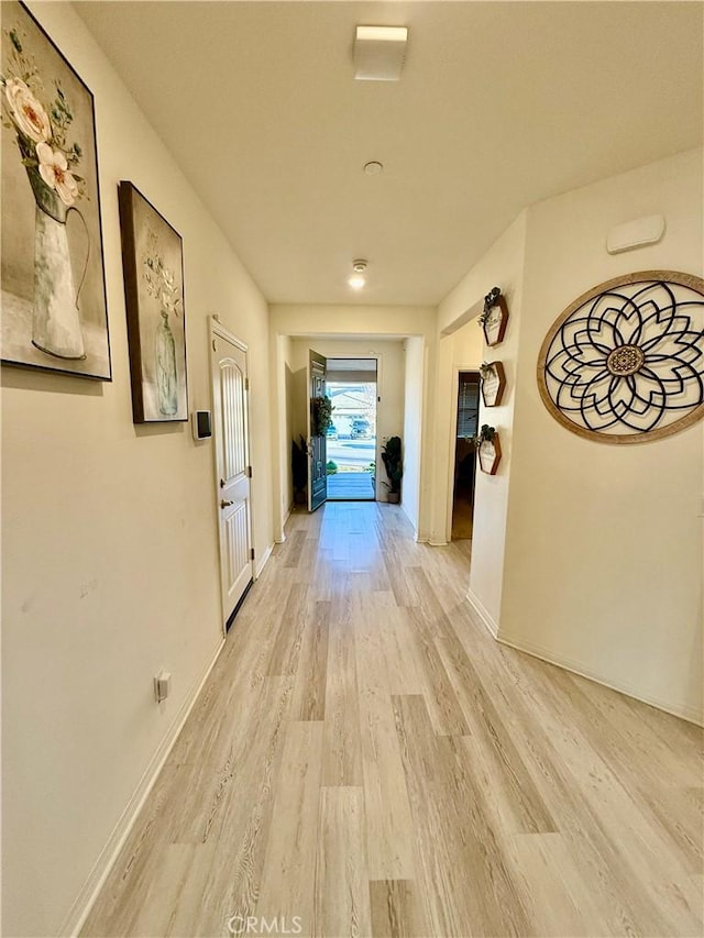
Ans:
POLYGON ((135 423, 188 419, 180 235, 136 189, 118 188, 135 423))

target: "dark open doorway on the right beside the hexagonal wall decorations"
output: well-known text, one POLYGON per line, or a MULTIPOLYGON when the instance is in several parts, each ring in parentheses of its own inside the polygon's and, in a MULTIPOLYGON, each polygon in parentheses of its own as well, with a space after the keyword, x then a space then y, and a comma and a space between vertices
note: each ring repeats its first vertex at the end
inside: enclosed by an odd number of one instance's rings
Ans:
POLYGON ((452 489, 452 540, 471 540, 476 483, 476 452, 471 442, 477 432, 480 373, 460 372, 458 419, 454 433, 454 484, 452 489))

